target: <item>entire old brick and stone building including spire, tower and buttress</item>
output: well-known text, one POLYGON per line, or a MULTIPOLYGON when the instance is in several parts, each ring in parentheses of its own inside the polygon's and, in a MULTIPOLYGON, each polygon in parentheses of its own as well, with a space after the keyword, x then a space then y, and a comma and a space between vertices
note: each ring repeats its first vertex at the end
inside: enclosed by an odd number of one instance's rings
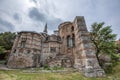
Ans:
POLYGON ((22 31, 12 47, 9 68, 41 67, 48 65, 74 67, 87 77, 101 77, 105 73, 98 64, 95 48, 83 16, 64 22, 54 34, 22 31))

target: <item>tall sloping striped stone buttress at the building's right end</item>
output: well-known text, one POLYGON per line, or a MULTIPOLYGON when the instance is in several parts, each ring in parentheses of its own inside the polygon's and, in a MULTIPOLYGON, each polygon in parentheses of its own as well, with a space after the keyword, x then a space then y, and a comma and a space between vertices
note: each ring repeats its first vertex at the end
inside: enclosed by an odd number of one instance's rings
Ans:
POLYGON ((95 48, 90 40, 83 16, 74 20, 76 53, 74 67, 78 68, 87 77, 102 77, 105 72, 98 64, 95 48))

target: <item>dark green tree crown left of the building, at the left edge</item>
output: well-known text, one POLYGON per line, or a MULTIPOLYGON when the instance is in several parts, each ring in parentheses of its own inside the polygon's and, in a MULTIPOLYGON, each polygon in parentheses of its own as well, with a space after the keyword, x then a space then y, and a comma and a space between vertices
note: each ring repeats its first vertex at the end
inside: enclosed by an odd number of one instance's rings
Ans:
POLYGON ((0 46, 2 46, 5 50, 11 50, 15 37, 16 33, 0 33, 0 46))

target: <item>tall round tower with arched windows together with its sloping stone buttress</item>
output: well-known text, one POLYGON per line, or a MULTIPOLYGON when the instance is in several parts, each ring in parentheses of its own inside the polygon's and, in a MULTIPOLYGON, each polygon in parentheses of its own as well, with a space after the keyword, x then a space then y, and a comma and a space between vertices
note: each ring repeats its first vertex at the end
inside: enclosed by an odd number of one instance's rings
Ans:
POLYGON ((77 16, 73 22, 64 22, 59 25, 59 36, 62 39, 62 53, 73 60, 75 68, 85 76, 104 76, 104 71, 98 64, 95 48, 83 16, 77 16), (68 37, 74 35, 74 46, 68 46, 68 37))

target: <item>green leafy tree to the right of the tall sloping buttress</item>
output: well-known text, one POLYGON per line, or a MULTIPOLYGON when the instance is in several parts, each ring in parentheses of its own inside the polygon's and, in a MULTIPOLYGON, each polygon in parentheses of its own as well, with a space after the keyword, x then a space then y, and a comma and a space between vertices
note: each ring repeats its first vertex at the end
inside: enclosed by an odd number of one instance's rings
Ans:
POLYGON ((90 38, 95 45, 96 57, 101 67, 104 65, 99 59, 101 54, 109 55, 112 61, 117 59, 115 55, 117 53, 115 45, 116 34, 112 33, 111 26, 103 27, 103 25, 104 22, 92 24, 90 32, 90 38))

